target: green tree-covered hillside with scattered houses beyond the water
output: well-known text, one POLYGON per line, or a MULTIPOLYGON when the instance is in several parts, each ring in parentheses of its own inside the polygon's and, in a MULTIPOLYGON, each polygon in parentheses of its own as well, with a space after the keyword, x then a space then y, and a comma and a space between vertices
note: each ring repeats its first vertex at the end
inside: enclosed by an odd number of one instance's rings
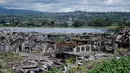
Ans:
MULTIPOLYGON (((31 13, 30 13, 31 14, 31 13)), ((129 12, 68 12, 39 13, 37 15, 0 15, 1 26, 51 26, 51 27, 84 27, 84 26, 130 26, 129 12)))

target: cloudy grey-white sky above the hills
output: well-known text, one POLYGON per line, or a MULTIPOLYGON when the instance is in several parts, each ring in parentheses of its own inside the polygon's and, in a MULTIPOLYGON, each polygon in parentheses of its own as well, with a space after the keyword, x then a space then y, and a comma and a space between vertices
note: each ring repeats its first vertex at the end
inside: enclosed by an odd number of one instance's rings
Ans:
POLYGON ((43 12, 129 12, 130 0, 0 0, 0 6, 43 12))

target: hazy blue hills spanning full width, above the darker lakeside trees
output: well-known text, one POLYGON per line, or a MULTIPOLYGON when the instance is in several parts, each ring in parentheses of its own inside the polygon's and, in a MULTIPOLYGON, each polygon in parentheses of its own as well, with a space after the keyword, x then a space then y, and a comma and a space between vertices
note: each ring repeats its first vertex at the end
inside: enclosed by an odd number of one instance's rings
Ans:
POLYGON ((87 20, 91 21, 96 18, 109 18, 111 20, 130 19, 130 12, 38 12, 31 10, 6 9, 0 6, 0 15, 34 15, 56 20, 87 20))

